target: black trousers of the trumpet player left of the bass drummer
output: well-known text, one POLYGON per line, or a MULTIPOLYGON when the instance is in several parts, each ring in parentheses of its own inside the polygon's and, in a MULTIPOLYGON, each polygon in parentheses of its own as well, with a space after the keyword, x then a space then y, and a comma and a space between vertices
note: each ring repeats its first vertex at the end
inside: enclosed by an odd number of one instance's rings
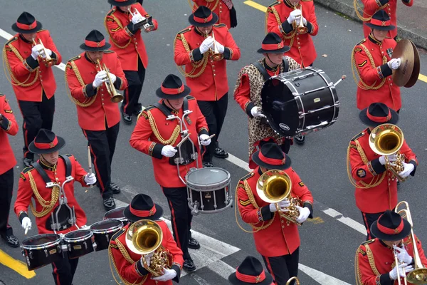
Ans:
POLYGON ((226 118, 228 92, 217 101, 197 101, 197 103, 199 103, 201 113, 205 116, 206 123, 208 123, 209 135, 215 134, 214 138, 211 138, 211 144, 206 147, 206 152, 203 156, 204 162, 211 162, 215 148, 218 147, 218 137, 226 118))

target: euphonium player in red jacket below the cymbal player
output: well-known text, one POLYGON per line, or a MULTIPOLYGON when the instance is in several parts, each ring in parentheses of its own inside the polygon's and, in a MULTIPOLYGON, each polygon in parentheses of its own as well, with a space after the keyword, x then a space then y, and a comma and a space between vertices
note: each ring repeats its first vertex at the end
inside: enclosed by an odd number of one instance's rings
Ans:
MULTIPOLYGON (((377 155, 369 146, 369 136, 375 127, 388 123, 396 124, 399 115, 383 103, 372 103, 359 114, 367 129, 357 134, 349 143, 347 160, 349 161, 349 177, 355 180, 354 196, 356 206, 360 209, 363 222, 367 229, 367 240, 371 239, 371 224, 387 209, 394 209, 397 204, 397 179, 386 168, 386 157, 377 155)), ((415 175, 418 160, 406 141, 399 150, 405 155, 404 170, 401 177, 415 175)), ((389 155, 390 162, 396 161, 396 154, 389 155)))

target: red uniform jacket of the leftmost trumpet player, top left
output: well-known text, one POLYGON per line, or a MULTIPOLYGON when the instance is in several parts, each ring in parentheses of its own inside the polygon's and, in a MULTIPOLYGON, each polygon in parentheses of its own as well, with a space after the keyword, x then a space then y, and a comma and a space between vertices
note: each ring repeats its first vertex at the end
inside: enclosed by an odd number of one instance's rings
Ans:
MULTIPOLYGON (((55 64, 62 61, 60 53, 48 30, 37 32, 36 43, 41 39, 43 46, 52 51, 51 58, 55 58, 55 64)), ((3 52, 6 68, 12 80, 16 98, 21 101, 41 102, 43 90, 47 98, 51 98, 56 90, 56 81, 53 77, 52 67, 46 67, 43 61, 39 64, 39 58, 31 57, 33 43, 26 41, 19 33, 11 38, 5 45, 3 52)))

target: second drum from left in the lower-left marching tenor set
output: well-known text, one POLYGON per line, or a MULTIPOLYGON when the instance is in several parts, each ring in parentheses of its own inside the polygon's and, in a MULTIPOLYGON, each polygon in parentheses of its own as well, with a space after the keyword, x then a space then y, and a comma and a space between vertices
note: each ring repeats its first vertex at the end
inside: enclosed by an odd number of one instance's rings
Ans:
POLYGON ((95 242, 95 239, 90 230, 77 229, 65 234, 64 242, 67 244, 68 259, 76 259, 93 252, 93 242, 95 242))

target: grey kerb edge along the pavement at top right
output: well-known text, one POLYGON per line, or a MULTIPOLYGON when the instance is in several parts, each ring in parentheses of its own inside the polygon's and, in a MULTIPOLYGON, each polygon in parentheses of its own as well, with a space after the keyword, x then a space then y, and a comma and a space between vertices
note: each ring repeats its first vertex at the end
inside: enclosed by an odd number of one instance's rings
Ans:
MULTIPOLYGON (((315 0, 316 4, 326 7, 332 11, 337 11, 338 13, 344 14, 349 18, 362 23, 362 21, 357 17, 354 7, 349 4, 343 3, 339 0, 315 0)), ((420 36, 413 31, 409 31, 408 28, 403 28, 402 26, 397 25, 397 33, 400 38, 408 38, 419 48, 427 49, 427 38, 420 36)))

